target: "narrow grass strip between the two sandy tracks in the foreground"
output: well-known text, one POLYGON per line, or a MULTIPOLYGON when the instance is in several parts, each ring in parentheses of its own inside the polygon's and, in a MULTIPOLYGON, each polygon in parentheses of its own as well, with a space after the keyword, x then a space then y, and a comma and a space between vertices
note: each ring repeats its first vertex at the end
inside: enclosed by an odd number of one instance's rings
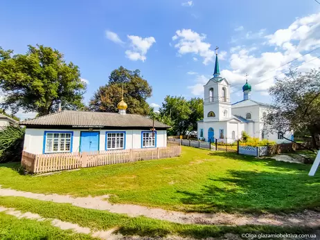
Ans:
MULTIPOLYGON (((123 235, 139 235, 141 237, 165 237, 166 235, 170 234, 180 235, 182 237, 196 237, 201 239, 206 237, 220 237, 225 233, 242 234, 250 232, 257 234, 272 234, 276 232, 303 234, 305 232, 313 232, 315 230, 312 228, 281 228, 268 225, 242 225, 234 227, 218 225, 183 225, 178 223, 170 223, 168 221, 160 221, 157 219, 148 219, 143 216, 132 218, 124 214, 114 214, 107 211, 84 209, 66 203, 51 203, 11 196, 0 197, 0 205, 5 207, 14 207, 15 210, 20 210, 21 212, 33 212, 46 218, 60 219, 62 221, 77 223, 82 227, 89 227, 91 230, 108 230, 109 228, 118 228, 118 232, 123 235)), ((17 228, 19 228, 19 225, 17 228)), ((44 231, 46 228, 48 228, 48 226, 44 225, 43 228, 44 229, 39 228, 39 231, 44 231)), ((10 232, 13 232, 13 230, 10 232)), ((24 234, 31 234, 32 232, 38 234, 33 228, 27 228, 24 234)), ((8 236, 11 235, 9 234, 8 236)), ((33 235, 31 234, 30 236, 33 235)))

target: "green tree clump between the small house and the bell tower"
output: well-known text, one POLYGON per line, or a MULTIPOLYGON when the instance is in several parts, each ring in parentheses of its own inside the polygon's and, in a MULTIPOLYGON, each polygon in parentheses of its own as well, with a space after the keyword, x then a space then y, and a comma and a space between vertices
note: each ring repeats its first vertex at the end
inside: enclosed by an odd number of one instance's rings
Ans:
POLYGON ((167 95, 159 111, 161 118, 166 116, 172 126, 168 135, 186 135, 188 131, 197 130, 197 121, 204 116, 203 100, 167 95))

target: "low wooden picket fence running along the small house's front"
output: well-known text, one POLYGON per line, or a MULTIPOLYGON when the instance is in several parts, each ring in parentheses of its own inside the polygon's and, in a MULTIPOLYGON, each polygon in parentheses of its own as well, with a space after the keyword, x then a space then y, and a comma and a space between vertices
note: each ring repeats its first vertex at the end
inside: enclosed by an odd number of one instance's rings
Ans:
POLYGON ((181 155, 181 146, 148 149, 125 149, 112 151, 75 152, 66 154, 22 153, 21 166, 30 173, 54 172, 80 167, 132 163, 139 160, 172 158, 181 155))

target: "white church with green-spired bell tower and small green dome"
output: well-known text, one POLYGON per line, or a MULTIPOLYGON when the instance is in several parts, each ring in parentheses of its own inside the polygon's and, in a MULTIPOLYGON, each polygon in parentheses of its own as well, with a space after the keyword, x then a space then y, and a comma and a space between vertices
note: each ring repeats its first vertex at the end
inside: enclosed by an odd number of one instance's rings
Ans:
POLYGON ((230 84, 220 77, 217 53, 213 77, 204 85, 204 119, 197 124, 199 140, 232 143, 246 131, 253 138, 268 139, 277 143, 289 142, 292 132, 271 133, 264 127, 263 117, 270 106, 250 99, 251 85, 242 86, 243 100, 231 104, 230 84))

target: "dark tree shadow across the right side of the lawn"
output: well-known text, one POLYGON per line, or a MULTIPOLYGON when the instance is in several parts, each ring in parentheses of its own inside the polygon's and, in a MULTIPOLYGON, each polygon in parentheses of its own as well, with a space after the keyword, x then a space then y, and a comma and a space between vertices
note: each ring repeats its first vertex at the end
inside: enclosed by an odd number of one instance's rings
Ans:
MULTIPOLYGON (((276 169, 283 170, 283 167, 276 169)), ((294 212, 305 208, 318 210, 319 177, 311 178, 305 171, 272 171, 231 170, 225 177, 208 178, 209 184, 204 185, 199 192, 178 191, 179 194, 184 194, 180 201, 190 205, 191 211, 197 212, 294 212)))

